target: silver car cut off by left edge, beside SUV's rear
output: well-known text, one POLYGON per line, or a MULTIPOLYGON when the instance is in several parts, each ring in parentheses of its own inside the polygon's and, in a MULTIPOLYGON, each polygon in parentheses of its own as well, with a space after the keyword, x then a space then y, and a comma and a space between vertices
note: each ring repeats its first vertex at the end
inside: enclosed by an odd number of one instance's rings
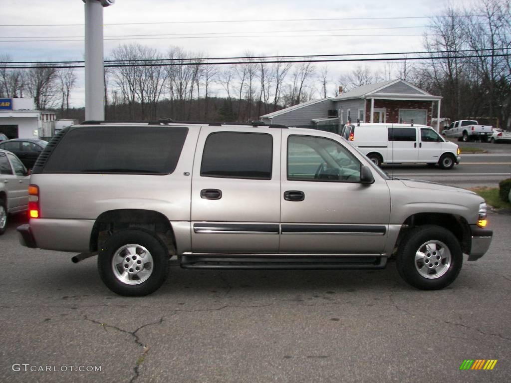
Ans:
POLYGON ((0 150, 0 235, 7 228, 9 214, 28 209, 27 174, 27 169, 13 153, 0 150))

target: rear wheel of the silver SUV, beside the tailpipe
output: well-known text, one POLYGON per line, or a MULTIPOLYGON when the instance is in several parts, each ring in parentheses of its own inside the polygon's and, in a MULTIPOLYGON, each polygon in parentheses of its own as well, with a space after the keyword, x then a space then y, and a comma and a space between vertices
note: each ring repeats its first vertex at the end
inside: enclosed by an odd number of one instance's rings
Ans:
MULTIPOLYGON (((137 269, 138 270, 138 269, 137 269)), ((144 230, 123 230, 114 233, 104 245, 104 249, 100 249, 98 254, 98 271, 101 277, 101 280, 108 289, 113 291, 116 294, 124 295, 124 296, 144 296, 153 293, 156 291, 167 278, 169 270, 169 253, 167 247, 152 233, 144 230), (124 249, 120 254, 123 254, 118 259, 122 259, 126 256, 126 259, 130 259, 129 269, 122 269, 124 267, 124 262, 127 262, 125 265, 128 265, 128 261, 122 260, 120 267, 118 267, 118 274, 120 270, 126 271, 128 270, 133 272, 131 276, 127 278, 133 278, 128 283, 125 283, 121 280, 121 277, 116 275, 114 271, 114 266, 112 262, 112 258, 114 256, 117 257, 116 253, 123 249, 126 245, 136 245, 134 246, 136 250, 132 253, 130 249, 124 249), (147 252, 138 252, 141 249, 145 248, 147 252), (140 256, 143 254, 146 258, 140 256), (149 257, 147 256, 149 254, 149 257), (137 258, 138 256, 138 258, 137 258), (132 259, 131 259, 132 258, 132 259), (144 262, 142 259, 151 259, 152 262, 147 262, 146 264, 141 263, 144 262), (142 260, 142 261, 141 261, 142 260), (138 262, 138 266, 136 265, 138 262), (141 267, 142 271, 144 271, 145 276, 147 274, 149 276, 147 279, 141 281, 141 278, 136 279, 138 276, 138 272, 134 271, 135 267, 141 267), (133 269, 132 269, 133 268, 133 269), (130 284, 135 283, 135 284, 130 284)), ((141 271, 141 273, 142 273, 141 271)))

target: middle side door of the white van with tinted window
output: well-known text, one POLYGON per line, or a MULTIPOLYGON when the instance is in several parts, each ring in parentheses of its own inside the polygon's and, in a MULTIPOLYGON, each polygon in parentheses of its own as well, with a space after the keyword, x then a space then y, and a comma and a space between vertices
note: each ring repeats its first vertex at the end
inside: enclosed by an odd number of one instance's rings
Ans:
POLYGON ((416 127, 388 127, 388 140, 391 148, 387 163, 417 162, 419 148, 416 127))

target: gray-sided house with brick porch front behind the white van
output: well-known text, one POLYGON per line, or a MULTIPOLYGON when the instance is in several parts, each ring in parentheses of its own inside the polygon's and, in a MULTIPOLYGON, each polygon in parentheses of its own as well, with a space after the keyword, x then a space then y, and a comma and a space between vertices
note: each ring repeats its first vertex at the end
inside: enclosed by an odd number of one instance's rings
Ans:
POLYGON ((331 130, 331 127, 353 123, 411 123, 431 126, 436 118, 439 128, 442 97, 429 94, 404 80, 383 81, 362 85, 336 98, 308 101, 261 116, 267 124, 310 127, 331 130))

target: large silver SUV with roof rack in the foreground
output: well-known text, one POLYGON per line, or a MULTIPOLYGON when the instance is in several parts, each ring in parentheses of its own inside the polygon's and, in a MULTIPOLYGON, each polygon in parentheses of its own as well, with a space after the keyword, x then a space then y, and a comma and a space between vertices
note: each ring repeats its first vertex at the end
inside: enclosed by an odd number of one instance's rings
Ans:
POLYGON ((484 200, 390 178, 336 134, 283 126, 85 122, 59 132, 29 188, 28 247, 98 254, 110 290, 146 295, 183 268, 381 269, 419 289, 490 246, 484 200))

